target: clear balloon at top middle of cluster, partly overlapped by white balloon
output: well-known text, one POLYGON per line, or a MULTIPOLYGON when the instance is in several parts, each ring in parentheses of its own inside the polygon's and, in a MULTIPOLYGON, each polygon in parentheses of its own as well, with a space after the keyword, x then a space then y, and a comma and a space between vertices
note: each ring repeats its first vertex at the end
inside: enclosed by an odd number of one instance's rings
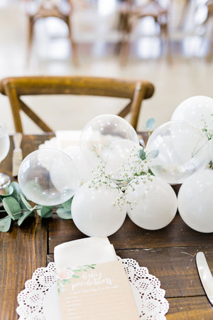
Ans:
POLYGON ((129 122, 113 114, 103 114, 90 120, 82 129, 80 146, 86 159, 96 169, 97 164, 106 159, 109 142, 119 139, 138 144, 136 131, 129 122))

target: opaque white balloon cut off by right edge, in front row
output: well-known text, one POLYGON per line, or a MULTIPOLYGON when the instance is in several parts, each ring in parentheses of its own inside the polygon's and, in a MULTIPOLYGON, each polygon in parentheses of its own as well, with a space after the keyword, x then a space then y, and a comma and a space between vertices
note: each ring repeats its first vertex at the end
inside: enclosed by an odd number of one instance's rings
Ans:
POLYGON ((213 171, 204 169, 187 178, 178 192, 182 220, 200 233, 213 233, 213 171))

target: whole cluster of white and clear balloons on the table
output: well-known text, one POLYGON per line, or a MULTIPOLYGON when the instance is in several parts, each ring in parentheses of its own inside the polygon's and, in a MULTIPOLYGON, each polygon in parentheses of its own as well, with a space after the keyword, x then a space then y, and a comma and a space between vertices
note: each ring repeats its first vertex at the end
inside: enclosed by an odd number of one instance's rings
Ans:
POLYGON ((177 208, 191 228, 212 232, 213 172, 204 167, 211 159, 213 100, 190 99, 153 131, 146 149, 131 124, 104 114, 82 129, 79 148, 34 151, 18 172, 23 193, 45 206, 74 195, 72 219, 89 236, 115 233, 126 213, 141 228, 157 230, 173 220, 177 208), (177 183, 178 200, 170 186, 177 183))

